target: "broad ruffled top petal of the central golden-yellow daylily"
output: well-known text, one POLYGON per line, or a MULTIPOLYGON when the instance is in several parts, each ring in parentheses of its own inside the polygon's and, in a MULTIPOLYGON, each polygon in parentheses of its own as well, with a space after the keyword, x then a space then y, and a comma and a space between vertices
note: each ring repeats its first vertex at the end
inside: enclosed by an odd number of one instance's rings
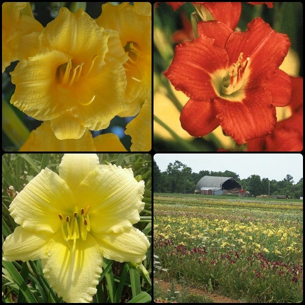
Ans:
MULTIPOLYGON (((108 52, 108 34, 98 26, 82 9, 71 13, 67 8, 60 8, 58 16, 42 31, 40 42, 47 46, 71 54, 73 62, 89 62, 98 55, 95 65, 105 64, 108 52)), ((84 66, 85 68, 85 66, 84 66)))

